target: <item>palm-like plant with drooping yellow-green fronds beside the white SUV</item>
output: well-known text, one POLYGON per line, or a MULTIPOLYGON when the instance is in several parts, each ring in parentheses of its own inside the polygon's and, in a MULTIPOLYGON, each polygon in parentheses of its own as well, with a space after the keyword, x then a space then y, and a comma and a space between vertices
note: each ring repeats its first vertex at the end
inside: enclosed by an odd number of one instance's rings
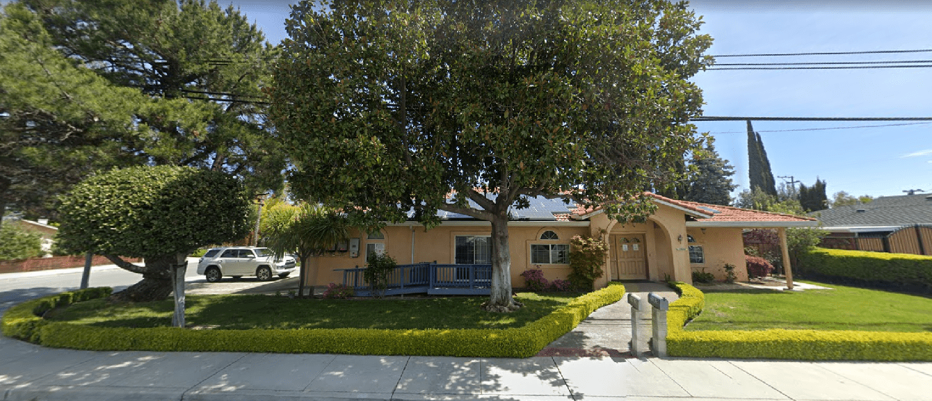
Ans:
POLYGON ((348 240, 349 222, 331 208, 282 203, 269 208, 261 231, 266 236, 266 246, 277 258, 291 252, 301 261, 298 294, 304 297, 305 277, 317 275, 317 272, 308 272, 308 259, 348 240))

